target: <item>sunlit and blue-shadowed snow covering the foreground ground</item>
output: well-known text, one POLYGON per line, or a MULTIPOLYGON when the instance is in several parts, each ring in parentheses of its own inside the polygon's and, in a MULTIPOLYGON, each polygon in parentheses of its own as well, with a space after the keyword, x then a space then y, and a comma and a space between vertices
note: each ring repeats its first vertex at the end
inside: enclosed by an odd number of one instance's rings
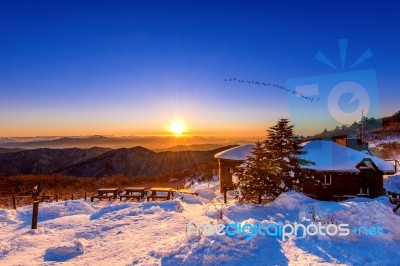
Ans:
MULTIPOLYGON (((397 179, 400 179, 399 177, 397 179)), ((393 178, 395 180, 395 178, 393 178)), ((393 181, 395 182, 395 181, 393 181)), ((227 205, 217 183, 196 184, 199 196, 165 202, 43 203, 39 229, 31 206, 0 209, 0 265, 398 265, 400 213, 387 197, 323 202, 296 192, 269 205, 227 205), (218 220, 220 212, 223 220, 218 220), (346 223, 380 226, 382 236, 200 236, 195 224, 346 223)), ((399 211, 400 212, 400 211, 399 211)))

